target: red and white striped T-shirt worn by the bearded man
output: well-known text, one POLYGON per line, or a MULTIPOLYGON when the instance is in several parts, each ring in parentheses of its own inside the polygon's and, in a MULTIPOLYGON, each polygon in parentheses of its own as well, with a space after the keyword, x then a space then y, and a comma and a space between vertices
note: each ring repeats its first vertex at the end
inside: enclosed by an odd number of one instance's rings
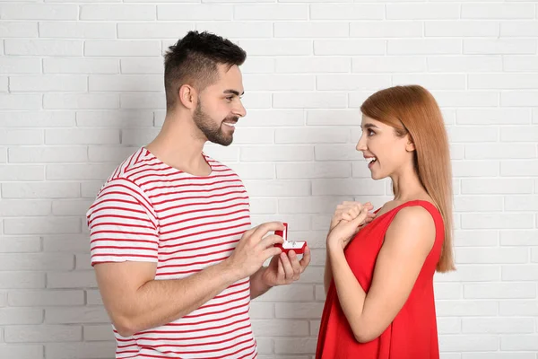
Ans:
MULTIPOLYGON (((156 280, 190 276, 228 258, 250 227, 239 176, 204 154, 211 174, 196 177, 139 149, 100 189, 87 217, 91 265, 157 263, 156 280)), ((250 282, 230 285, 188 315, 117 339, 117 358, 255 358, 250 282)))

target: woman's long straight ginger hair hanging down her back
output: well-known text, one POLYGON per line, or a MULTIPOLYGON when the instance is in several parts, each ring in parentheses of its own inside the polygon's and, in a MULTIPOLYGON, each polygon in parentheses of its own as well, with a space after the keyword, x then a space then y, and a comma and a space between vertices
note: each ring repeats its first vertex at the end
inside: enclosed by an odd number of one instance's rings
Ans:
MULTIPOLYGON (((452 167, 447 130, 437 101, 419 85, 395 86, 371 95, 360 110, 365 116, 394 127, 396 136, 411 137, 415 146, 415 171, 445 223, 445 241, 437 270, 454 270, 452 167)), ((394 184, 393 189, 397 191, 394 184)))

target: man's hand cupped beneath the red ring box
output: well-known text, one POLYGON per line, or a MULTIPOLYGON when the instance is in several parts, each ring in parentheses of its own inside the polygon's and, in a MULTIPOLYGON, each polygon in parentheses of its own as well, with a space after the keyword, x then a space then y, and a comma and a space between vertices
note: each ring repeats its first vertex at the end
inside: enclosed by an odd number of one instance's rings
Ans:
POLYGON ((303 258, 299 260, 297 254, 290 250, 288 254, 281 253, 280 256, 274 256, 269 263, 269 267, 265 268, 262 274, 262 281, 265 285, 289 285, 297 280, 305 271, 310 263, 310 249, 305 248, 303 258))

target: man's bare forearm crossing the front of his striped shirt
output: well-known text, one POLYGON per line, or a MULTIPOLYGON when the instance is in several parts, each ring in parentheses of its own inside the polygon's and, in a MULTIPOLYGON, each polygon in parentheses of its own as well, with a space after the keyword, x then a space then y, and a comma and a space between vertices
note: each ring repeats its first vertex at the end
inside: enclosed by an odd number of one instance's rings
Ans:
POLYGON ((111 317, 119 334, 128 337, 178 320, 239 279, 225 261, 186 278, 151 280, 112 311, 111 317))

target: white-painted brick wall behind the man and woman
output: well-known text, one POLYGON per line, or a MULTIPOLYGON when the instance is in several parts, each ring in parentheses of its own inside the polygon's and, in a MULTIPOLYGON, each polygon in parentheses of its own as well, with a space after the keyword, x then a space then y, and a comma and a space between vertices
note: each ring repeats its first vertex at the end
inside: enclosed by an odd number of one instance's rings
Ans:
POLYGON ((247 50, 247 118, 206 147, 253 222, 307 240, 298 284, 252 303, 260 359, 313 358, 338 201, 380 206, 359 107, 400 83, 443 109, 458 271, 437 275, 442 359, 538 359, 538 3, 188 0, 0 4, 0 358, 112 358, 86 208, 162 125, 161 53, 188 30, 247 50), (184 3, 184 4, 180 4, 184 3))

